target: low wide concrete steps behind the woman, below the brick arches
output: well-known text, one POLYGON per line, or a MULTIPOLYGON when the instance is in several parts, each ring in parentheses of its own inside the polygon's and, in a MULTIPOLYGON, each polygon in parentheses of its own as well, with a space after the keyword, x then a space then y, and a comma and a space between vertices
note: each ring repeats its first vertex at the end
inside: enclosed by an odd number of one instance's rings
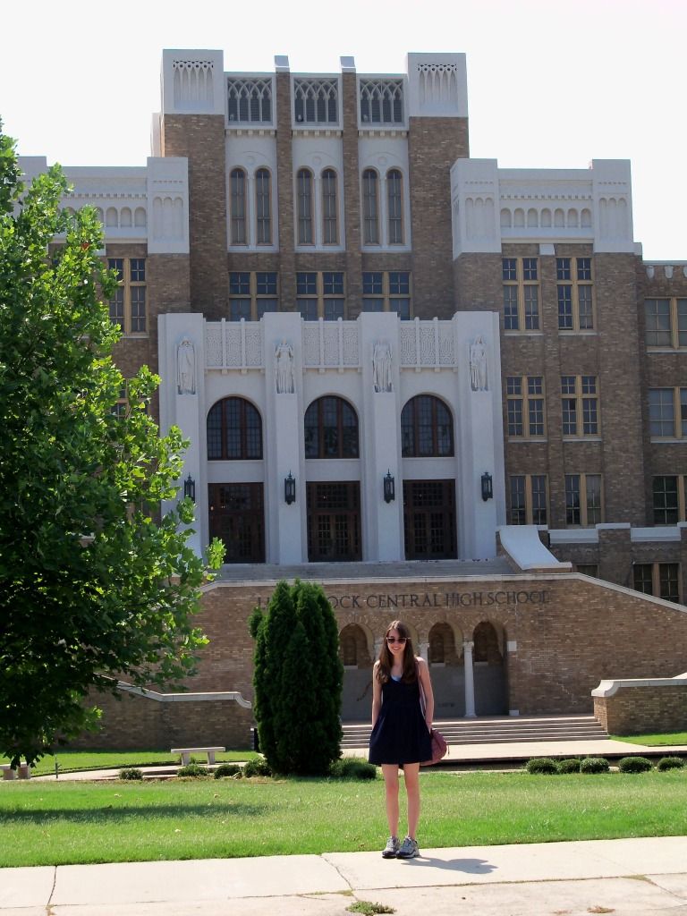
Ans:
MULTIPOLYGON (((590 741, 607 738, 593 715, 485 716, 434 723, 450 745, 507 744, 511 741, 590 741)), ((367 747, 369 723, 344 724, 344 748, 367 747)))

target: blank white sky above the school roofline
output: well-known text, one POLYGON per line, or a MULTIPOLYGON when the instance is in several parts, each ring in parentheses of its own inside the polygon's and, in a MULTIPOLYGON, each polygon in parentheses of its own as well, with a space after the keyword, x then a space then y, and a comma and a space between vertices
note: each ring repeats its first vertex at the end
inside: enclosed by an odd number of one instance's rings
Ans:
POLYGON ((687 0, 27 0, 0 47, 0 118, 22 155, 142 165, 163 48, 226 71, 401 72, 467 55, 470 151, 504 168, 632 162, 644 256, 687 260, 687 0))

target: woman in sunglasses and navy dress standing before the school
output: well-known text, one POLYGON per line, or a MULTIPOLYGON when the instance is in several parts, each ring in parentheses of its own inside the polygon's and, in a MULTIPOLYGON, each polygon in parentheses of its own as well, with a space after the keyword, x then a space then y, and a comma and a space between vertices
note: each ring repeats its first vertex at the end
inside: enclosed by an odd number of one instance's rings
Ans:
POLYGON ((392 621, 372 675, 370 763, 381 766, 387 791, 389 833, 384 858, 420 855, 415 832, 420 820, 420 762, 431 758, 434 695, 427 662, 413 652, 409 629, 392 621), (420 686, 424 710, 420 706, 420 686), (408 795, 408 835, 398 842, 398 769, 408 795))

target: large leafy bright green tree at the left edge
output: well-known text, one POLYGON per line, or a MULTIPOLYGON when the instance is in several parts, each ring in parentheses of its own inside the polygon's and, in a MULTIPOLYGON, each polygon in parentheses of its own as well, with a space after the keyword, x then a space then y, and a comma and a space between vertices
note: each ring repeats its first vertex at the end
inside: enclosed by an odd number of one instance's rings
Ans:
POLYGON ((102 226, 66 212, 67 192, 57 166, 24 188, 0 125, 0 751, 15 764, 93 727, 93 689, 178 685, 206 642, 191 501, 159 518, 185 443, 148 415, 158 378, 114 365, 102 226))

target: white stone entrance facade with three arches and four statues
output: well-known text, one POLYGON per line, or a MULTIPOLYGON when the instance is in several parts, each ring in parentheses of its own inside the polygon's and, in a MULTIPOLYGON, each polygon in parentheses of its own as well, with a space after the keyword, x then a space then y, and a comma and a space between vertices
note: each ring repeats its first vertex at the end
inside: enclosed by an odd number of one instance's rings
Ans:
POLYGON ((400 322, 395 314, 364 313, 354 322, 303 322, 299 315, 267 313, 260 322, 206 322, 201 314, 167 314, 158 322, 160 425, 162 430, 178 425, 191 441, 182 476, 191 474, 196 484, 196 550, 210 536, 209 484, 263 485, 266 561, 284 564, 308 560, 306 484, 357 481, 363 560, 403 560, 402 481, 453 479, 458 557, 495 556, 496 528, 506 517, 496 315, 462 312, 447 322, 400 322), (184 342, 192 344, 194 378, 182 385, 184 342), (373 364, 380 342, 390 354, 383 373, 373 364), (479 378, 475 342, 483 356, 479 378), (277 377, 275 354, 282 343, 292 354, 292 391, 284 390, 277 377), (480 379, 484 384, 475 384, 480 379), (441 398, 450 410, 453 457, 402 457, 401 410, 420 394, 441 398), (357 459, 304 457, 305 411, 325 395, 354 407, 357 459), (258 410, 262 460, 208 460, 208 411, 227 397, 245 398, 258 410), (396 481, 396 498, 387 503, 383 478, 388 472, 396 481), (284 499, 289 473, 296 480, 291 505, 284 499), (488 500, 482 498, 485 473, 494 482, 494 497, 488 500))

